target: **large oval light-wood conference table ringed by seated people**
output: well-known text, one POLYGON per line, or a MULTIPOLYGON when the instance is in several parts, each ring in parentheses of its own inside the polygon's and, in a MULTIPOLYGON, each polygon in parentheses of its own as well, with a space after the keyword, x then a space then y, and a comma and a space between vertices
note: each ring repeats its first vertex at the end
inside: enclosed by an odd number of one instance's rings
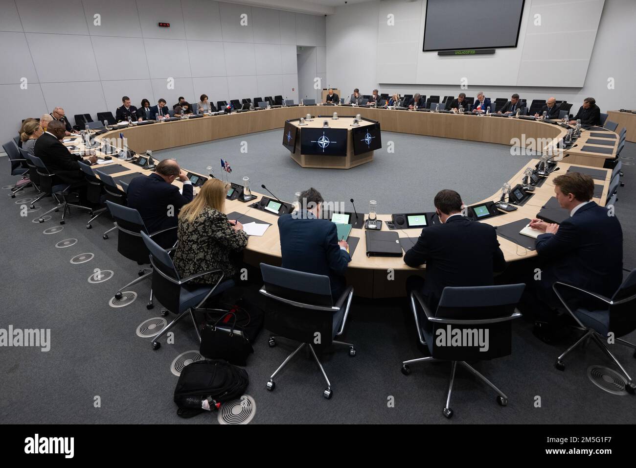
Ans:
MULTIPOLYGON (((380 122, 383 131, 468 139, 471 141, 500 143, 508 146, 511 146, 511 141, 515 138, 518 139, 520 145, 525 146, 529 146, 529 142, 533 141, 532 139, 536 139, 545 143, 544 145, 542 144, 543 148, 541 148, 544 151, 546 151, 548 146, 555 145, 558 139, 563 138, 567 132, 558 125, 517 118, 476 117, 448 113, 364 107, 352 108, 347 106, 289 106, 286 108, 233 113, 231 115, 182 119, 152 125, 135 125, 114 129, 101 134, 97 139, 117 138, 119 132, 122 132, 127 138, 128 147, 143 154, 146 150, 163 150, 174 146, 191 145, 252 132, 282 129, 288 119, 300 118, 307 113, 312 115, 331 115, 333 111, 337 111, 338 115, 343 116, 354 116, 359 113, 365 118, 377 120, 380 122)), ((496 227, 536 217, 542 206, 554 195, 554 186, 551 181, 558 174, 565 173, 570 166, 596 169, 597 174, 593 178, 598 190, 595 193, 594 201, 604 206, 607 199, 611 170, 602 169, 602 166, 605 159, 615 157, 616 143, 618 143, 618 139, 614 132, 601 128, 583 131, 581 137, 575 142, 575 146, 570 150, 565 150, 565 157, 558 162, 560 171, 549 174, 543 185, 534 190, 534 195, 529 201, 523 206, 519 206, 516 211, 481 220, 480 222, 496 227), (586 143, 588 140, 591 140, 589 144, 586 143), (608 152, 606 148, 611 148, 611 151, 608 152)), ((75 144, 81 147, 77 142, 68 142, 67 144, 75 144)), ((116 158, 113 157, 113 159, 116 158)), ((114 162, 121 164, 123 168, 119 173, 111 173, 110 175, 113 178, 133 173, 145 175, 151 173, 151 171, 135 166, 131 162, 122 160, 114 160, 114 162)), ((483 201, 474 201, 473 204, 498 201, 501 196, 501 185, 504 182, 508 182, 514 187, 516 184, 521 183, 525 168, 534 167, 537 162, 539 162, 538 159, 530 159, 527 164, 523 164, 523 167, 510 180, 502 180, 498 187, 494 187, 494 195, 492 197, 483 201)), ((187 170, 187 161, 181 161, 181 163, 184 169, 187 170)), ((93 169, 99 168, 100 166, 93 166, 93 169)), ((190 172, 193 173, 193 171, 190 172)), ((207 177, 207 174, 199 175, 207 177)), ((181 185, 179 181, 174 183, 181 185)), ((195 188, 196 191, 197 189, 195 188)), ((262 196, 257 192, 252 192, 252 194, 258 197, 255 201, 258 201, 262 196)), ((426 208, 431 207, 422 206, 422 211, 426 208)), ((249 238, 245 248, 244 260, 254 266, 258 266, 259 262, 280 265, 280 239, 277 215, 250 208, 249 203, 238 200, 226 200, 225 212, 231 215, 230 218, 238 217, 240 220, 240 216, 246 215, 256 218, 256 220, 271 223, 272 225, 263 236, 251 236, 249 238)), ((385 222, 391 221, 391 215, 378 214, 378 219, 383 221, 382 230, 388 230, 385 222)), ((420 229, 396 229, 395 232, 400 238, 412 238, 415 241, 420 234, 420 229)), ((408 276, 412 274, 424 276, 425 267, 419 269, 408 267, 404 264, 403 257, 367 257, 364 229, 352 229, 350 232, 351 237, 357 238, 358 241, 352 253, 352 260, 349 263, 346 276, 349 285, 354 287, 356 295, 371 298, 401 297, 406 295, 404 285, 408 276)), ((527 248, 527 246, 518 245, 514 241, 509 240, 509 238, 504 238, 501 235, 498 235, 497 238, 501 244, 501 250, 504 253, 506 262, 529 259, 536 255, 536 251, 527 248)), ((354 242, 355 240, 350 241, 350 245, 354 242)))

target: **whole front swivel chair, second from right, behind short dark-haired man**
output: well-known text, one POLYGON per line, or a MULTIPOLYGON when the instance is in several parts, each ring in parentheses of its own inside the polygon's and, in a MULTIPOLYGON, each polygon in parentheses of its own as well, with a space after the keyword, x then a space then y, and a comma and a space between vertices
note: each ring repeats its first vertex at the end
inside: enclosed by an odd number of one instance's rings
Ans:
MULTIPOLYGON (((508 404, 508 397, 494 383, 480 374, 466 361, 489 360, 508 356, 511 353, 511 321, 521 316, 516 312, 516 304, 521 299, 525 285, 501 285, 478 287, 446 287, 442 291, 437 310, 433 313, 418 291, 411 292, 411 310, 415 318, 420 343, 427 346, 431 356, 410 359, 402 362, 402 373, 411 373, 409 364, 416 362, 450 361, 450 383, 443 415, 453 416, 450 397, 457 364, 462 365, 478 379, 487 383, 497 394, 497 403, 508 404), (417 302, 417 303, 416 303, 417 302), (424 316, 418 313, 418 305, 424 316), (451 333, 460 330, 468 341, 462 346, 450 346, 451 333), (482 332, 483 330, 483 332, 482 332), (442 332, 448 334, 448 341, 440 339, 442 332), (479 341, 480 332, 485 338, 479 341), (488 335, 486 335, 488 332, 488 335), (478 343, 474 344, 474 340, 478 343), (442 344, 438 344, 438 343, 442 344), (481 346, 480 346, 481 345, 481 346), (482 351, 487 346, 487 350, 482 351)), ((446 335, 445 335, 446 336, 446 335)))

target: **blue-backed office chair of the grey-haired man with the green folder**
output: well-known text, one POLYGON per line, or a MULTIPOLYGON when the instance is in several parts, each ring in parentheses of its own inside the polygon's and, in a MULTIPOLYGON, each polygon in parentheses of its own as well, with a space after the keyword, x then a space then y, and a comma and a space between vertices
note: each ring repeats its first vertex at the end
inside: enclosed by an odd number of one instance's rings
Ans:
POLYGON ((261 294, 270 299, 265 315, 265 327, 272 332, 270 346, 275 346, 275 336, 282 336, 300 341, 296 351, 291 353, 270 376, 266 383, 267 390, 273 390, 275 376, 291 358, 302 348, 308 348, 324 377, 327 388, 322 396, 330 399, 333 395, 331 382, 315 353, 315 347, 324 350, 331 344, 339 344, 349 348, 349 355, 355 356, 356 349, 351 343, 335 341, 342 335, 347 323, 351 300, 354 295, 352 287, 347 287, 338 300, 331 298, 329 277, 321 274, 305 273, 261 263, 263 287, 261 294), (319 335, 316 335, 319 333, 319 335), (321 339, 315 342, 316 337, 321 339))

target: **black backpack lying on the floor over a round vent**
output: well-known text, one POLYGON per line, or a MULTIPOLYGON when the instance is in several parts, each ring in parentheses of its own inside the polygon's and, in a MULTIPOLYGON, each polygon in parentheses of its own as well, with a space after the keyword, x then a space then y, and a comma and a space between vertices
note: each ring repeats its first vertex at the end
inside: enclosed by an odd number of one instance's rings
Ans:
POLYGON ((174 389, 177 415, 191 418, 240 398, 249 384, 247 372, 224 360, 201 360, 186 365, 174 389), (209 409, 208 409, 209 408, 209 409))

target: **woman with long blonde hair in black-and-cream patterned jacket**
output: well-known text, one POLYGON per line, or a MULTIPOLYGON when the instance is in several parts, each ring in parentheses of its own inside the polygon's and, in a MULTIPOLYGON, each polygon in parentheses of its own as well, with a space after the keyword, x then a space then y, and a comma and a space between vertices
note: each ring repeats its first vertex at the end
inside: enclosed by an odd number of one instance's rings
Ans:
MULTIPOLYGON (((181 278, 216 269, 223 271, 224 281, 236 274, 230 256, 245 248, 247 234, 240 222, 228 220, 223 213, 227 191, 225 182, 211 178, 179 211, 174 266, 181 278)), ((192 281, 214 285, 220 277, 210 273, 192 281)))

